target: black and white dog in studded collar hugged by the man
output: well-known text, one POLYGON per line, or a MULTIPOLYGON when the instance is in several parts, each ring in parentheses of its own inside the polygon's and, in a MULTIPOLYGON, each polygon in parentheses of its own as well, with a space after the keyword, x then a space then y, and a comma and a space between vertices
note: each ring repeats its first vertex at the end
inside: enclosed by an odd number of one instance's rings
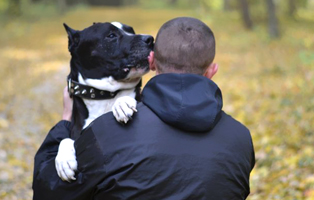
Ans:
POLYGON ((77 168, 73 139, 104 113, 112 111, 119 122, 127 123, 136 111, 154 39, 136 35, 119 22, 94 23, 82 31, 64 27, 72 56, 68 89, 73 112, 71 139, 61 141, 55 164, 59 177, 70 181, 77 168))

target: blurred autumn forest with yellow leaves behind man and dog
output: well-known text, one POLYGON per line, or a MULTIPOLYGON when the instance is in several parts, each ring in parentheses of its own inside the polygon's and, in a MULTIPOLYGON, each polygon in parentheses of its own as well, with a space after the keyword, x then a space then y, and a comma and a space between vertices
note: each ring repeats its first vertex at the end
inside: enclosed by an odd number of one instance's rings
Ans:
POLYGON ((120 21, 156 36, 178 16, 216 35, 223 109, 255 145, 249 199, 314 200, 314 0, 0 0, 0 199, 32 198, 34 155, 61 119, 62 23, 120 21))

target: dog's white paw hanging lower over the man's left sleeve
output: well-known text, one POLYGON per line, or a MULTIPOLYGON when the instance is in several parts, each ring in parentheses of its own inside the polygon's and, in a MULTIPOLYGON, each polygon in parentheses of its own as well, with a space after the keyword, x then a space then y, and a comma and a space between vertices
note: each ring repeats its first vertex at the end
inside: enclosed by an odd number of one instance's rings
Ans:
POLYGON ((63 181, 70 182, 71 180, 76 180, 74 175, 77 170, 77 161, 74 140, 66 138, 60 142, 58 155, 55 159, 55 166, 58 176, 63 181))

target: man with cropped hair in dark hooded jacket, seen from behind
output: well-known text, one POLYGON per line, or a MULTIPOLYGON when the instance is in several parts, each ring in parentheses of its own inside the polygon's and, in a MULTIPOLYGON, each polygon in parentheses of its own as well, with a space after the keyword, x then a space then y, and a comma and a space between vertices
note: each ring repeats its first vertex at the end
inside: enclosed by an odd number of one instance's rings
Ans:
MULTIPOLYGON (((158 32, 142 92, 126 126, 112 113, 96 119, 75 141, 76 180, 54 169, 69 122, 59 122, 35 158, 34 199, 245 199, 254 149, 245 126, 224 113, 210 79, 215 39, 203 22, 176 18, 158 32)), ((64 119, 71 109, 65 99, 64 119), (67 111, 68 110, 68 111, 67 111)))

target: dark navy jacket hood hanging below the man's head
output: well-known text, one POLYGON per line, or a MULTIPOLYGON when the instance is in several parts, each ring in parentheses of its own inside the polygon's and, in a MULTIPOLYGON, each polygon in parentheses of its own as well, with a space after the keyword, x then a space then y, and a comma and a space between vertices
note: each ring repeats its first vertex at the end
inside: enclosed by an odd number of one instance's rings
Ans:
POLYGON ((211 130, 222 109, 218 86, 195 74, 153 77, 143 89, 142 102, 165 123, 193 132, 211 130))

